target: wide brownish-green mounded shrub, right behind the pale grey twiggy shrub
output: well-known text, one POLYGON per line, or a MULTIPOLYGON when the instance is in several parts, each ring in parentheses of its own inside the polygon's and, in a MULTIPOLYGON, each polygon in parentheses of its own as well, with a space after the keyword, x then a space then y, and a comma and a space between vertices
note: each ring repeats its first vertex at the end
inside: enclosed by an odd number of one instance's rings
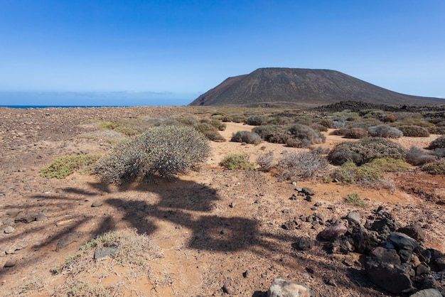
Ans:
POLYGON ((404 160, 406 151, 389 139, 368 137, 355 142, 341 142, 328 153, 328 160, 334 165, 341 165, 347 161, 361 165, 383 157, 404 160))

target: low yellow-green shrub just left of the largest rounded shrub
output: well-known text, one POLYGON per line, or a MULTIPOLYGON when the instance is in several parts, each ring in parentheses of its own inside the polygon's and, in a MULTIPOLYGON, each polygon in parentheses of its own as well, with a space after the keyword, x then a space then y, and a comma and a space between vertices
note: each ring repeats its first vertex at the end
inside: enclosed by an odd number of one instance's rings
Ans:
POLYGON ((99 155, 91 154, 69 155, 55 158, 48 166, 41 168, 39 175, 43 178, 66 178, 81 168, 89 168, 98 158, 99 155))

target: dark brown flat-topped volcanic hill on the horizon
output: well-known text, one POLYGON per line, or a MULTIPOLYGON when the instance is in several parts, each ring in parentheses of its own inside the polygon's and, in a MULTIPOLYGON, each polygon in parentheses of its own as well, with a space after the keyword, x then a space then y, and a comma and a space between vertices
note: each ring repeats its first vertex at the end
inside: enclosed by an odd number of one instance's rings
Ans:
POLYGON ((404 95, 335 70, 259 68, 229 77, 190 105, 252 105, 292 102, 319 106, 340 101, 373 104, 441 104, 444 99, 404 95))

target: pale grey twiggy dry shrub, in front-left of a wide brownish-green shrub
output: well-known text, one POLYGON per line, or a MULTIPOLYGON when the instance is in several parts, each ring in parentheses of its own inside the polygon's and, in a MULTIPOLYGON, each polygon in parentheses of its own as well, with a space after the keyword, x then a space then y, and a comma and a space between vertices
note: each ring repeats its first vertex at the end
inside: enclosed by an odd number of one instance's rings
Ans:
POLYGON ((277 164, 279 180, 311 178, 328 168, 328 161, 316 151, 283 152, 277 164))

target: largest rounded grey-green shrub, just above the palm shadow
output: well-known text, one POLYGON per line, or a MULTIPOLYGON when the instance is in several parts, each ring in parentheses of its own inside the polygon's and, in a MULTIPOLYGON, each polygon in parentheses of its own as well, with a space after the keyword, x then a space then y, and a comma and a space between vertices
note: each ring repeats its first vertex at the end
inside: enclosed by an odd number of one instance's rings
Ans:
POLYGON ((109 183, 170 177, 195 169, 209 154, 207 139, 192 127, 159 126, 112 148, 97 161, 93 173, 109 183))

